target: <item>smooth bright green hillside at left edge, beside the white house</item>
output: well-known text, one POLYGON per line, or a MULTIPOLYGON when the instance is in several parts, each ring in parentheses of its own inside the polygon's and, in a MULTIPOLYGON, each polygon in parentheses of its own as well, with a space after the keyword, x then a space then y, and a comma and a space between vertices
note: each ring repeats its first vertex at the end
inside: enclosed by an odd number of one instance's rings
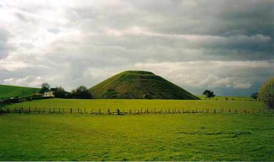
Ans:
POLYGON ((0 98, 10 97, 27 97, 38 92, 39 88, 11 86, 11 85, 0 85, 0 98))

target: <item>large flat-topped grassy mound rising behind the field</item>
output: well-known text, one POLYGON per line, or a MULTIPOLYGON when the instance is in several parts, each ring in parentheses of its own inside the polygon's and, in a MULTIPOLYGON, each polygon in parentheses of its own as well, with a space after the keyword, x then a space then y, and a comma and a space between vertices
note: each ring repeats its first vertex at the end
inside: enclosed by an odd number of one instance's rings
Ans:
POLYGON ((89 90, 98 99, 199 99, 166 79, 145 71, 122 72, 89 90))

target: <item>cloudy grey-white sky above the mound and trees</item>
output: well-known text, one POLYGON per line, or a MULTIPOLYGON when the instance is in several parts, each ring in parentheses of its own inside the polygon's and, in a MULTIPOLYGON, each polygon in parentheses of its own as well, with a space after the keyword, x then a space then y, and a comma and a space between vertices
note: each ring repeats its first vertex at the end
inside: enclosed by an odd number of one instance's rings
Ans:
POLYGON ((274 76, 274 1, 0 1, 0 84, 72 90, 127 70, 200 95, 274 76))

